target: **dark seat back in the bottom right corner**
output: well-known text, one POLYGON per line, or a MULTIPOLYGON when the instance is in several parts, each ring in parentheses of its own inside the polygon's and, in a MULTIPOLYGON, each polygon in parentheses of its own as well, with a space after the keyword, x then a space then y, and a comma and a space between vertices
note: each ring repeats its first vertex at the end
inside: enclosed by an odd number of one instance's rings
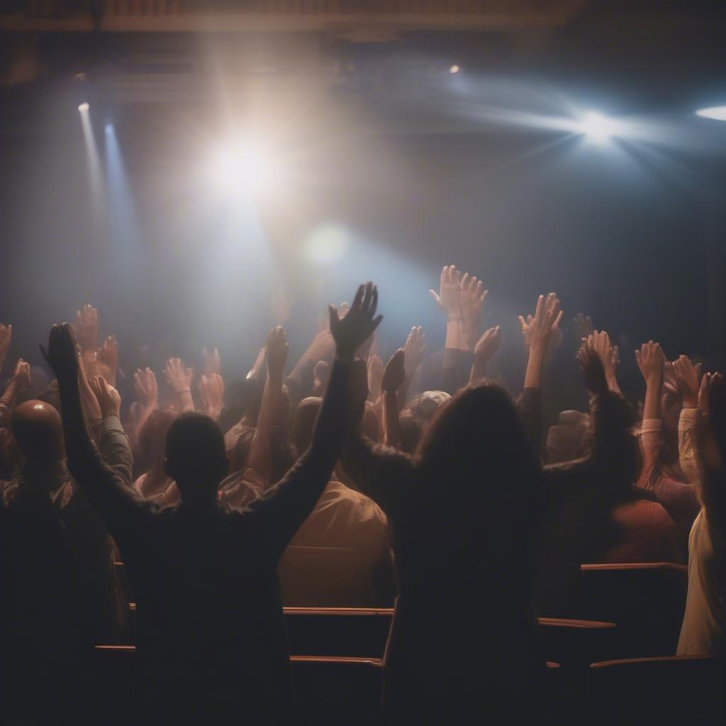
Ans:
POLYGON ((590 720, 610 724, 723 724, 724 661, 667 656, 604 661, 590 666, 590 720))

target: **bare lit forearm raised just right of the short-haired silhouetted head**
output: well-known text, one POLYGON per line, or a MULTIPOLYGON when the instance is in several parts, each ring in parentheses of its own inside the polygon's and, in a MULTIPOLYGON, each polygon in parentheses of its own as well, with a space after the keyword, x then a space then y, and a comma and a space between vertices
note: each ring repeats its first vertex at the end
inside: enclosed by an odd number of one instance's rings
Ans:
POLYGON ((287 340, 281 325, 270 330, 267 336, 266 360, 267 378, 262 403, 257 418, 257 428, 250 445, 247 469, 253 470, 258 478, 270 484, 272 470, 272 429, 277 425, 282 403, 282 371, 287 362, 287 340))

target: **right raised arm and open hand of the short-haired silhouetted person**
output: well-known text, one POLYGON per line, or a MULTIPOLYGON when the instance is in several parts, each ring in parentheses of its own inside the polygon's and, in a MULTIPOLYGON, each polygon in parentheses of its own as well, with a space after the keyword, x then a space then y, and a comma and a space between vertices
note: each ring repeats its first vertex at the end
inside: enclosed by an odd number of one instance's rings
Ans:
POLYGON ((261 537, 267 539, 277 555, 282 555, 310 514, 343 451, 348 425, 345 396, 348 373, 356 349, 380 324, 382 317, 375 316, 377 305, 378 290, 368 282, 359 287, 350 311, 342 320, 330 306, 335 359, 310 447, 285 477, 248 508, 248 513, 258 518, 261 537))

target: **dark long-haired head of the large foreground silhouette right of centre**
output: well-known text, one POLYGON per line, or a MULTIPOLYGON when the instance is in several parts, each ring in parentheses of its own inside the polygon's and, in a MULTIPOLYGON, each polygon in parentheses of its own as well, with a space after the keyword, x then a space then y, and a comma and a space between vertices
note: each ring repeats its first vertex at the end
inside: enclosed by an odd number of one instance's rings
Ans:
POLYGON ((486 518, 483 527, 501 531, 501 523, 512 531, 531 529, 538 506, 539 462, 501 386, 464 388, 439 407, 417 457, 420 483, 428 494, 450 489, 457 510, 486 518))

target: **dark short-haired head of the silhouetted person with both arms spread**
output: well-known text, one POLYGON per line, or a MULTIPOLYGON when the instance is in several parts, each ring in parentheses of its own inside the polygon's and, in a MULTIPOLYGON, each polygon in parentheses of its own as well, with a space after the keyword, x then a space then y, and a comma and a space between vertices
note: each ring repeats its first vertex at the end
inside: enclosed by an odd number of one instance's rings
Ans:
POLYGON ((166 436, 166 473, 176 481, 182 499, 214 499, 228 466, 224 436, 210 417, 185 413, 171 424, 166 436))

